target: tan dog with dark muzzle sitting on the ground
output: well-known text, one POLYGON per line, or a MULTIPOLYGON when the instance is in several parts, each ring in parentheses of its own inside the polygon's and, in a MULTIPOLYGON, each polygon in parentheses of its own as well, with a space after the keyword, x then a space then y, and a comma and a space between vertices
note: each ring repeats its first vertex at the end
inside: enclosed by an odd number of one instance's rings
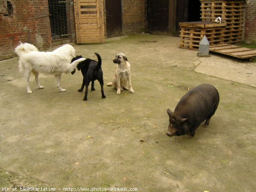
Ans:
POLYGON ((134 93, 134 90, 131 86, 131 65, 128 62, 128 59, 123 53, 116 55, 116 58, 113 59, 113 62, 117 64, 116 73, 112 79, 112 83, 108 83, 108 86, 112 86, 114 89, 117 89, 116 94, 120 95, 121 90, 129 90, 131 93, 134 93), (127 84, 129 83, 129 88, 127 84))

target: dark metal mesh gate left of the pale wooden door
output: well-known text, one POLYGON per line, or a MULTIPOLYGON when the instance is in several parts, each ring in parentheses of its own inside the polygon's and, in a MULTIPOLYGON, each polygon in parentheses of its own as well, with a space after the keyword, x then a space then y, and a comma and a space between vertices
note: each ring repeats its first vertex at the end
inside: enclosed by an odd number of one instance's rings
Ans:
POLYGON ((69 40, 70 19, 68 0, 48 0, 52 41, 69 40))

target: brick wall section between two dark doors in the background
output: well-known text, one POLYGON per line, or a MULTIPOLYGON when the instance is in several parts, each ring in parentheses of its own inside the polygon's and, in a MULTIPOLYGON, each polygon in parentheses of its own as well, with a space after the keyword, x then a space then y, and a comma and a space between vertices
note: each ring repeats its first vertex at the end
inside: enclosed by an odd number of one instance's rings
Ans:
POLYGON ((123 35, 145 31, 145 0, 122 0, 123 35))

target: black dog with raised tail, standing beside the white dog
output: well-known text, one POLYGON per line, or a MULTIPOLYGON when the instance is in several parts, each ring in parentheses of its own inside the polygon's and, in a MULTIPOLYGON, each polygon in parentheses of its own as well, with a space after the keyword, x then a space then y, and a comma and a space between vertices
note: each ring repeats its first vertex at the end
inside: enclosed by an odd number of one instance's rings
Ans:
MULTIPOLYGON (((84 85, 85 85, 85 94, 84 94, 84 101, 87 101, 87 95, 88 95, 88 87, 90 84, 90 81, 92 81, 91 84, 91 90, 95 90, 94 89, 94 81, 98 80, 99 84, 101 86, 101 92, 102 92, 102 98, 106 98, 106 96, 104 95, 104 90, 103 90, 103 72, 102 72, 102 68, 101 68, 101 64, 102 64, 102 59, 99 56, 98 53, 94 53, 97 58, 98 58, 98 62, 92 59, 87 58, 86 60, 80 62, 76 68, 78 70, 81 70, 82 74, 83 74, 83 84, 81 86, 81 89, 79 89, 79 92, 82 92, 84 89, 84 85)), ((82 56, 76 56, 72 59, 71 62, 76 61, 77 59, 82 58, 82 56)), ((74 70, 72 72, 72 75, 76 72, 76 70, 74 70)))

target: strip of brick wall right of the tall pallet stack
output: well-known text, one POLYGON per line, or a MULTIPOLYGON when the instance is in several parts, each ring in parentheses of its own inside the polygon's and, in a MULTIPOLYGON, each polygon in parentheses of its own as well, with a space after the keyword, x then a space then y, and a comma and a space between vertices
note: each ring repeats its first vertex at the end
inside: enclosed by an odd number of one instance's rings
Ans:
POLYGON ((256 0, 247 0, 245 8, 244 40, 256 42, 256 0))

